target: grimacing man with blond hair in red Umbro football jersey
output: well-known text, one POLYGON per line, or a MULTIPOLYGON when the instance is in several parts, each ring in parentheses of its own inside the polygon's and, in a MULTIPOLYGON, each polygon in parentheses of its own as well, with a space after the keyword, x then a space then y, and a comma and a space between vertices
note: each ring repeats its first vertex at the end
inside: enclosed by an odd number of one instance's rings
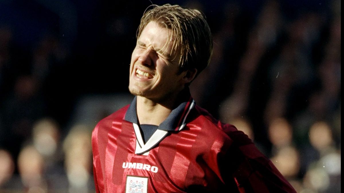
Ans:
POLYGON ((97 192, 295 192, 233 125, 195 105, 188 85, 209 63, 205 16, 179 5, 144 13, 130 105, 93 131, 97 192))

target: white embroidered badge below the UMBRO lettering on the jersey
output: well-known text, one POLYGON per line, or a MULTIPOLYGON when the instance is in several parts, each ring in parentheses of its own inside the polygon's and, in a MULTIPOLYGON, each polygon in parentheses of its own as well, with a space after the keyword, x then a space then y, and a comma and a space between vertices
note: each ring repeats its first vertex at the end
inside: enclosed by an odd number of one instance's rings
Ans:
POLYGON ((126 193, 147 193, 148 178, 127 175, 126 193))

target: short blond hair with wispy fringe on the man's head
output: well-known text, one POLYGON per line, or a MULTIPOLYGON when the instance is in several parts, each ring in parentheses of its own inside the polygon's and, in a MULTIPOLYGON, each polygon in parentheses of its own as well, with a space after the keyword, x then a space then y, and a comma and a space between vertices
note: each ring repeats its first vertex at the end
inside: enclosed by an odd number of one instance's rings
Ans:
POLYGON ((180 5, 150 5, 144 12, 137 31, 139 39, 144 27, 157 22, 161 27, 171 29, 169 41, 172 41, 172 52, 180 49, 180 72, 197 69, 197 75, 208 66, 213 52, 213 40, 205 15, 196 9, 187 9, 180 5), (153 9, 148 10, 150 7, 153 9), (148 11, 147 11, 148 10, 148 11))

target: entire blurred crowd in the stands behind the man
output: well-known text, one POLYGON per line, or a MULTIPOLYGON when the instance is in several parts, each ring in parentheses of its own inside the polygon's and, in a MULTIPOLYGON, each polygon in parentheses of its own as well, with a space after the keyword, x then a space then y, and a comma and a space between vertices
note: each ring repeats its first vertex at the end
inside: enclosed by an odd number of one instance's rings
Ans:
MULTIPOLYGON (((243 130, 297 192, 341 192, 341 1, 152 3, 207 16, 214 51, 190 86, 196 103, 243 130)), ((94 192, 92 129, 132 100, 149 4, 0 2, 0 192, 94 192)))

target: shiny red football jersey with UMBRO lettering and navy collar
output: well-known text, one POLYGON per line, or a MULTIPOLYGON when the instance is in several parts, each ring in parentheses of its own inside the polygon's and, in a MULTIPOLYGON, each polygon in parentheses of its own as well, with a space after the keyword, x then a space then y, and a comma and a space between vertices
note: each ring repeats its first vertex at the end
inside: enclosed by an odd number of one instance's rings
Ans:
POLYGON ((92 147, 96 192, 295 192, 247 135, 192 98, 147 143, 135 98, 97 124, 92 147))

